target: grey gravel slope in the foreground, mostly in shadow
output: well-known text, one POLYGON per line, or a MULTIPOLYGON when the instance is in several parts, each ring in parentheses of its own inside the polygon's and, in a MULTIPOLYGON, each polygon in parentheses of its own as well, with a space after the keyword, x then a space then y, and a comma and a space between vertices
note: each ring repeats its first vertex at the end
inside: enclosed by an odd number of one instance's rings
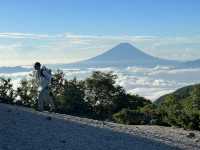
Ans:
POLYGON ((125 126, 0 104, 0 150, 200 149, 200 133, 125 126))

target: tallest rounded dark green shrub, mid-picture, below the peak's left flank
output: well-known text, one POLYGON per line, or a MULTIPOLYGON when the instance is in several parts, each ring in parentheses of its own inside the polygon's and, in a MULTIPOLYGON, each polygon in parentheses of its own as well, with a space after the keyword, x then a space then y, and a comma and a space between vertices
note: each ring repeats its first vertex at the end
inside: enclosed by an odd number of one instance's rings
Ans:
POLYGON ((112 72, 95 71, 85 80, 85 99, 96 113, 96 119, 105 120, 112 116, 113 103, 118 101, 116 95, 121 92, 120 88, 115 87, 116 78, 112 72))

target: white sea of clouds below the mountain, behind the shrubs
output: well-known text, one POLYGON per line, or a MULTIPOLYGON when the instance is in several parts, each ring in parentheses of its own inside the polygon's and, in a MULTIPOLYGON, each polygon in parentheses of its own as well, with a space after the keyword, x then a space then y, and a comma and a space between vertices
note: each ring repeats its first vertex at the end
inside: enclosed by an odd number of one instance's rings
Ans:
MULTIPOLYGON (((173 67, 157 66, 154 68, 126 67, 126 68, 86 68, 66 69, 64 71, 67 79, 85 79, 93 71, 113 71, 118 76, 116 84, 121 85, 128 93, 144 96, 152 101, 162 95, 171 93, 178 88, 200 83, 200 68, 176 69, 173 67)), ((27 78, 31 72, 17 72, 12 74, 1 73, 1 77, 12 78, 14 87, 17 88, 20 80, 27 78)))

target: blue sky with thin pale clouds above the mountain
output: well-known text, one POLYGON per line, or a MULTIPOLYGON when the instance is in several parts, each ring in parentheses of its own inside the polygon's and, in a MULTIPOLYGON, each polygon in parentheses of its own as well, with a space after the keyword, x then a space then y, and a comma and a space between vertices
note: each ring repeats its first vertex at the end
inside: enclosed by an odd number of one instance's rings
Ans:
POLYGON ((0 18, 0 65, 72 62, 120 42, 200 58, 198 0, 2 0, 0 18))

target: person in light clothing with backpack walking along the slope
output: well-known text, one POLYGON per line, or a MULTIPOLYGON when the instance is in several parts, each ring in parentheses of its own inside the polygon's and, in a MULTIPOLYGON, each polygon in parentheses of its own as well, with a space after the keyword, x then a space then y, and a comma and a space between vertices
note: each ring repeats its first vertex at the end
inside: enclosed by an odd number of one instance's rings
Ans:
POLYGON ((55 105, 53 102, 53 94, 50 91, 51 83, 51 70, 45 66, 41 67, 39 62, 34 64, 34 76, 36 79, 36 84, 39 86, 39 98, 38 98, 38 110, 43 111, 44 105, 49 105, 50 111, 55 110, 55 105))

